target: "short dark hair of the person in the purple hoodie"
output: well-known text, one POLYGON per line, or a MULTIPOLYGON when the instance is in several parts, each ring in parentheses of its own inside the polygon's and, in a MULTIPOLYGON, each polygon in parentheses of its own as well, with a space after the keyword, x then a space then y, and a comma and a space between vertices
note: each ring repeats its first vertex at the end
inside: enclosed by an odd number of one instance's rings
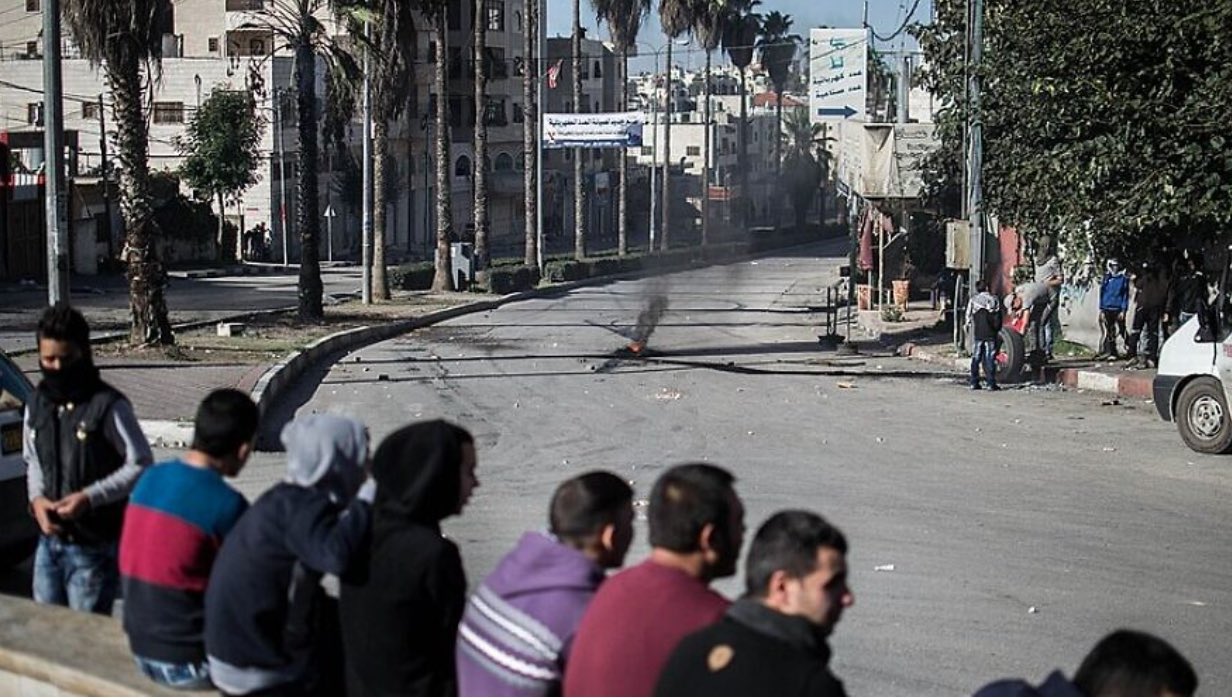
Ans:
POLYGON ((561 483, 548 507, 552 534, 580 543, 616 523, 621 510, 633 502, 633 487, 604 470, 593 470, 561 483))

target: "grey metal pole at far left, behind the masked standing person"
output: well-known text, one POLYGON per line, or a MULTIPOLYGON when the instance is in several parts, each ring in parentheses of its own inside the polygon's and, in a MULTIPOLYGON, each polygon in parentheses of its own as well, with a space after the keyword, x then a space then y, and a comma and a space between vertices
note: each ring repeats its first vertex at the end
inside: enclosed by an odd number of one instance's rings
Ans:
POLYGON ((60 82, 60 0, 43 0, 43 175, 47 217, 47 302, 69 302, 65 215, 64 95, 60 82))

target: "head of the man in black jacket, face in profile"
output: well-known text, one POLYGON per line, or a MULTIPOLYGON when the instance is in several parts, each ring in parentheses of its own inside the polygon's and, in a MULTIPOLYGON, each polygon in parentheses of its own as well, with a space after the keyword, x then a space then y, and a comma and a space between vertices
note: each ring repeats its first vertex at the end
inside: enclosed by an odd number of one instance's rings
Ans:
POLYGON ((855 603, 846 580, 846 538, 808 511, 781 511, 753 538, 745 560, 748 595, 829 635, 855 603))

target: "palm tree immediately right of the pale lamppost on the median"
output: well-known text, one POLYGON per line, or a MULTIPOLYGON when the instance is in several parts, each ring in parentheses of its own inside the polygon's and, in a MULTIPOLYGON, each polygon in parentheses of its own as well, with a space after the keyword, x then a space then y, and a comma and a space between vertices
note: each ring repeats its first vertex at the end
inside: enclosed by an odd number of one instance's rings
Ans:
POLYGON ((389 177, 389 122, 407 107, 404 95, 414 85, 415 25, 408 0, 381 0, 376 9, 381 22, 373 27, 372 50, 372 299, 389 299, 386 275, 386 208, 389 192, 395 190, 389 177))

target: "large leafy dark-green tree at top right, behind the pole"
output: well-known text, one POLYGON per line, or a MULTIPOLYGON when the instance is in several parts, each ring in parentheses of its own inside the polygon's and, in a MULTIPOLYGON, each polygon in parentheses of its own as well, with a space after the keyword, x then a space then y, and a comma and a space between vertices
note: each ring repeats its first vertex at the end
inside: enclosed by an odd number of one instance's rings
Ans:
MULTIPOLYGON (((966 12, 936 5, 915 33, 941 98, 929 192, 961 191, 966 12)), ((988 213, 1077 254, 1154 261, 1163 245, 1226 239, 1232 225, 1232 5, 988 2, 979 66, 988 213), (1082 57, 1074 60, 1073 57, 1082 57)), ((950 196, 945 196, 950 195, 950 196)))

